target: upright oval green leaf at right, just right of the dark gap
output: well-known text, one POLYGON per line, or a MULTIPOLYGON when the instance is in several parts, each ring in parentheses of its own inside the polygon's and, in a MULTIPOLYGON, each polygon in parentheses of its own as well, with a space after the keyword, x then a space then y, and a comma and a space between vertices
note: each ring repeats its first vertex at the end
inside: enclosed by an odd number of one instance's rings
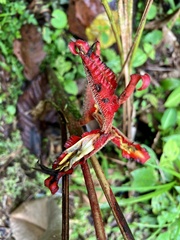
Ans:
POLYGON ((166 109, 161 118, 161 128, 166 130, 176 124, 177 111, 174 108, 166 109))

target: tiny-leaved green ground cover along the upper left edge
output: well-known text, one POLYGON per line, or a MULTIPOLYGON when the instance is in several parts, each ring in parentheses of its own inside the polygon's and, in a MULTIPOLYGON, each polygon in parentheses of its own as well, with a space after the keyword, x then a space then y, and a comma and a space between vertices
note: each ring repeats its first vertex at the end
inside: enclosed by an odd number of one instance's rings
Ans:
POLYGON ((0 96, 0 116, 6 123, 12 123, 15 116, 15 106, 23 84, 23 67, 13 54, 13 41, 20 38, 20 28, 25 23, 37 24, 33 14, 26 10, 24 1, 8 1, 1 6, 0 13, 0 52, 5 61, 0 67, 8 72, 13 81, 7 82, 7 90, 0 96), (4 105, 4 103, 6 103, 4 105), (4 106, 7 106, 4 109, 4 106))

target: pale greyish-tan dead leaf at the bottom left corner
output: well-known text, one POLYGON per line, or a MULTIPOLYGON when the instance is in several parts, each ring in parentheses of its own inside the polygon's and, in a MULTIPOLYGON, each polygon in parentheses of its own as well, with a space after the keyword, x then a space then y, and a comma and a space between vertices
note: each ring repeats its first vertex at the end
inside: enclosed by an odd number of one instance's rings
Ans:
POLYGON ((16 240, 59 240, 61 221, 61 209, 54 197, 24 202, 10 215, 16 240))

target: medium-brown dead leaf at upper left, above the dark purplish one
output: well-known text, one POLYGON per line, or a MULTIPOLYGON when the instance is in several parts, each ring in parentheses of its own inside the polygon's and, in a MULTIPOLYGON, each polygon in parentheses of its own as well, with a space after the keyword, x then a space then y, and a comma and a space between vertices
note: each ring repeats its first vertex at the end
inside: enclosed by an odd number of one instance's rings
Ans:
POLYGON ((39 66, 45 58, 41 33, 32 24, 25 24, 21 28, 21 39, 13 44, 14 54, 24 66, 24 75, 32 80, 40 72, 39 66))

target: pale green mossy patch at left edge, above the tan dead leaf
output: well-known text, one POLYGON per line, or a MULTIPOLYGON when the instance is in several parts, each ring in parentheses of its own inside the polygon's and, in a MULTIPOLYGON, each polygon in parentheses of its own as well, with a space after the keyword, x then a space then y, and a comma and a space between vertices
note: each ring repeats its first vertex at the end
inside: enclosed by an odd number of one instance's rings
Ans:
MULTIPOLYGON (((0 137, 2 137, 1 134, 0 137)), ((0 142, 0 156, 1 166, 7 161, 8 156, 15 156, 12 159, 13 164, 10 164, 5 174, 3 172, 1 175, 3 177, 0 178, 0 201, 3 201, 4 196, 8 196, 13 201, 16 201, 21 196, 21 201, 25 201, 29 194, 34 196, 38 194, 39 189, 43 188, 44 176, 40 173, 37 173, 34 179, 28 176, 28 174, 34 172, 33 168, 37 160, 29 154, 26 148, 22 148, 22 141, 18 131, 13 132, 11 139, 8 138, 5 143, 0 142), (22 164, 26 165, 26 170, 22 168, 22 164)))

